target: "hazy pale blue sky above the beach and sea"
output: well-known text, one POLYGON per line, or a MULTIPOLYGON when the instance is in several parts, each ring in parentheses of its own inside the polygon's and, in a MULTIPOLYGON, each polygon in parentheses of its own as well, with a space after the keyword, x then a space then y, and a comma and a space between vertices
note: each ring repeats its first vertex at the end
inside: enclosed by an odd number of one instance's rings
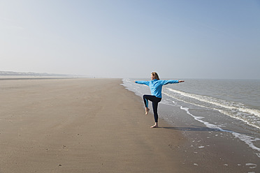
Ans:
POLYGON ((0 0, 0 71, 260 79, 260 0, 0 0))

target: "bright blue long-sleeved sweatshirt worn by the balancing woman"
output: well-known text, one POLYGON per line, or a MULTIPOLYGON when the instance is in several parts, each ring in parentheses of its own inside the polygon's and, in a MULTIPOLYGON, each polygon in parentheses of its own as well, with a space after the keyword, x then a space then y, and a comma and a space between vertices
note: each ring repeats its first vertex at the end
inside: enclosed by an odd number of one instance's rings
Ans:
POLYGON ((161 89, 165 84, 179 83, 178 80, 150 80, 150 81, 136 81, 136 84, 145 84, 150 87, 152 96, 161 98, 161 89))

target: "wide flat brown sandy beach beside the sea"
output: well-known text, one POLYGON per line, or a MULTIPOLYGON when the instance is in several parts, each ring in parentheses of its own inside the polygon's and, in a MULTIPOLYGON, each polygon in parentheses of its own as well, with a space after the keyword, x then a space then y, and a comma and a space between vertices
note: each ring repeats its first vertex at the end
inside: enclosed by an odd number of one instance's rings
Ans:
POLYGON ((0 172, 247 172, 236 154, 224 166, 221 145, 190 154, 178 128, 150 128, 152 112, 121 83, 0 80, 0 172))

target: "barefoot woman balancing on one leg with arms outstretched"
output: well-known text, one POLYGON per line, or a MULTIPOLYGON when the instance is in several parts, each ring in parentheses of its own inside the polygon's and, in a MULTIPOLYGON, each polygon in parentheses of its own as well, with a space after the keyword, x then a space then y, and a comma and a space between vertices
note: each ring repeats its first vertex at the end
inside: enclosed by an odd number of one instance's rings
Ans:
POLYGON ((135 81, 136 84, 145 84, 150 87, 150 91, 152 95, 144 95, 143 101, 145 103, 145 114, 148 114, 148 100, 152 102, 152 109, 154 110, 154 126, 151 128, 158 128, 158 114, 157 114, 157 107, 158 103, 161 101, 161 89, 162 86, 165 84, 173 84, 173 83, 180 83, 185 82, 184 80, 160 80, 159 76, 156 72, 151 74, 151 81, 135 81))

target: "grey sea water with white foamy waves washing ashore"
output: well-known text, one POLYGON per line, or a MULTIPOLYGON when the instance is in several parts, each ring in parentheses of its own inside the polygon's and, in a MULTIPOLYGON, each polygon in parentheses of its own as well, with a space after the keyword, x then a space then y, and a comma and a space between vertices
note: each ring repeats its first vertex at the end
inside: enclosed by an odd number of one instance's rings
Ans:
MULTIPOLYGON (((138 96, 150 94, 149 87, 135 84, 134 80, 149 79, 123 79, 124 87, 138 96)), ((189 119, 187 123, 193 119, 212 131, 245 142, 260 158, 260 80, 187 79, 165 85, 162 93, 160 118, 172 124, 177 119, 189 119), (185 112, 185 116, 176 116, 171 107, 185 112)))

